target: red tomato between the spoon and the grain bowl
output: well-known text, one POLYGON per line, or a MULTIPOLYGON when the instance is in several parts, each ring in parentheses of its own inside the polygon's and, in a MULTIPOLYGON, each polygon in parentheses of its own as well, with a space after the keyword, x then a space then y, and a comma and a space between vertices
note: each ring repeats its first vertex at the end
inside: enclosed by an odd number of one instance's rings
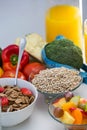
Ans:
POLYGON ((26 76, 27 80, 31 80, 35 74, 38 74, 40 70, 44 69, 46 69, 46 66, 44 64, 39 62, 32 62, 24 67, 23 73, 26 76))

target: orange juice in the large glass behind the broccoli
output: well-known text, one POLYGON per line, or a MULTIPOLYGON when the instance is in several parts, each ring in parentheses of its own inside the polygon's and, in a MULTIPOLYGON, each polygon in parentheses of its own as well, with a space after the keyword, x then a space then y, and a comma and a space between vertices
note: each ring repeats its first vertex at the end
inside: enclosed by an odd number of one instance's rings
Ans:
POLYGON ((56 5, 46 12, 47 42, 58 35, 64 35, 82 49, 82 21, 78 7, 56 5))

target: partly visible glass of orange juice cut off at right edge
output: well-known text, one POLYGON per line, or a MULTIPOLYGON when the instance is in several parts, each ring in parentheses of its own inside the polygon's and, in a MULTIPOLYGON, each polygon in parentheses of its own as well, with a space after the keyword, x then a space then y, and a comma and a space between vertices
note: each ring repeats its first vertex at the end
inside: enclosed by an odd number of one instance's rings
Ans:
POLYGON ((85 48, 85 61, 87 63, 87 20, 84 22, 84 48, 85 48))

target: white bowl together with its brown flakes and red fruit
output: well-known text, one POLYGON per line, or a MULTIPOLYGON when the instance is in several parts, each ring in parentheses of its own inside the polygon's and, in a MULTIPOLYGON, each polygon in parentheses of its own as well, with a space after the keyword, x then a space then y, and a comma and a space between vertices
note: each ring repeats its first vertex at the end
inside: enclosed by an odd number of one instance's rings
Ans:
POLYGON ((17 125, 33 113, 38 92, 36 87, 22 79, 0 78, 1 118, 4 127, 17 125))

